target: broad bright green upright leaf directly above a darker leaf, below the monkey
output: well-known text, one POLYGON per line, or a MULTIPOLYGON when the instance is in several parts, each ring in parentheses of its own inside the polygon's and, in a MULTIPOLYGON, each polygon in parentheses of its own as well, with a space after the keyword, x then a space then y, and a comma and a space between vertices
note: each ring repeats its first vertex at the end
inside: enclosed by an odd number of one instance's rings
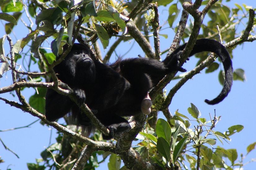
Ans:
POLYGON ((156 122, 155 132, 158 137, 164 138, 167 142, 171 141, 171 127, 164 119, 158 119, 156 122))

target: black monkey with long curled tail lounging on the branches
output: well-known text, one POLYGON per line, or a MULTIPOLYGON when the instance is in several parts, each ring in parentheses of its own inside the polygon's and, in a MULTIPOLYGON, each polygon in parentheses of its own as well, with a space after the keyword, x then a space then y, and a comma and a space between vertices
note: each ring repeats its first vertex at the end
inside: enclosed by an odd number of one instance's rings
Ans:
MULTIPOLYGON (((95 116, 110 130, 113 138, 115 132, 128 130, 130 125, 122 116, 134 116, 141 113, 141 102, 148 95, 148 90, 159 83, 166 74, 172 71, 186 71, 180 66, 181 51, 186 44, 177 48, 163 62, 148 58, 129 58, 118 60, 112 65, 102 64, 91 57, 90 50, 82 44, 74 44, 70 53, 54 71, 58 79, 68 84, 79 99, 85 102, 95 116)), ((189 55, 202 51, 216 53, 224 65, 225 83, 221 93, 208 104, 221 102, 229 93, 233 80, 232 62, 227 49, 218 41, 199 39, 189 55)), ((47 89, 46 118, 55 121, 71 112, 79 125, 92 127, 91 121, 79 111, 69 97, 47 89)), ((89 133, 90 133, 89 128, 89 133)))

